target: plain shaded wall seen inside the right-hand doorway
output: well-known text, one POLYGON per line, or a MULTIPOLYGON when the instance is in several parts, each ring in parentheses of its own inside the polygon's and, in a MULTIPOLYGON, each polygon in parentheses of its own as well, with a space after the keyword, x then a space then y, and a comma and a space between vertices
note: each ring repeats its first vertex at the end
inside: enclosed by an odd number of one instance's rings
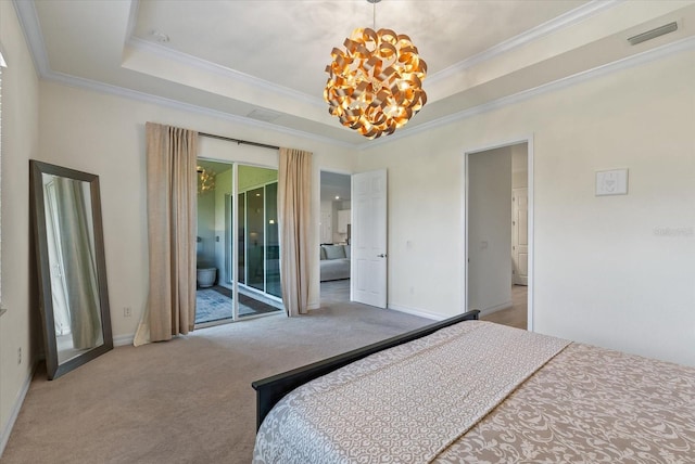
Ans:
POLYGON ((468 308, 511 306, 511 146, 468 155, 468 308))

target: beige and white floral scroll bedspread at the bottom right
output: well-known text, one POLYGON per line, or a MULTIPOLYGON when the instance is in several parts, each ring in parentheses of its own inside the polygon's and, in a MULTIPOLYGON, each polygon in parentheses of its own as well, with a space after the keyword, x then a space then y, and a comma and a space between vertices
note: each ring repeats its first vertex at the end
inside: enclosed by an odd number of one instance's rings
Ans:
POLYGON ((437 463, 695 463, 695 369, 571 344, 437 463))

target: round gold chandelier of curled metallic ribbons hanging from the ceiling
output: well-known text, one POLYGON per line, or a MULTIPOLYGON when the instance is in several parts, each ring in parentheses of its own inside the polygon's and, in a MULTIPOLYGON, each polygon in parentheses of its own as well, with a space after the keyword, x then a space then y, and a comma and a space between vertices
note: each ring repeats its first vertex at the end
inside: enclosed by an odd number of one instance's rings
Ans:
MULTIPOLYGON (((367 0, 375 4, 380 0, 367 0)), ((376 27, 375 27, 376 29, 376 27)), ((427 102, 427 63, 406 35, 356 28, 326 66, 324 100, 340 123, 368 139, 391 134, 427 102)))

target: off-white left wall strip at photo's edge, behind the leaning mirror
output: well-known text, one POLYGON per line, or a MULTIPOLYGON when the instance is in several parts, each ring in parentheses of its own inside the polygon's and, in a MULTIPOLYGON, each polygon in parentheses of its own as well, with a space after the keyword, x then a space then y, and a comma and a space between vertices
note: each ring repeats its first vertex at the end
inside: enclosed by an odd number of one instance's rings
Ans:
POLYGON ((12 2, 0 1, 2 70, 2 305, 0 317, 0 453, 34 361, 42 351, 29 222, 29 159, 38 157, 39 83, 12 2), (22 362, 17 363, 17 351, 22 362))

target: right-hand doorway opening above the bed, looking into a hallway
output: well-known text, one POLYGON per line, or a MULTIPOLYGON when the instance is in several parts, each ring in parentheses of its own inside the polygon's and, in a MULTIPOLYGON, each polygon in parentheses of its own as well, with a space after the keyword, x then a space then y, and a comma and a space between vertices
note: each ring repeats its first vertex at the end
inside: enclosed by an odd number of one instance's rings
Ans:
POLYGON ((466 153, 466 308, 532 330, 532 144, 466 153))

